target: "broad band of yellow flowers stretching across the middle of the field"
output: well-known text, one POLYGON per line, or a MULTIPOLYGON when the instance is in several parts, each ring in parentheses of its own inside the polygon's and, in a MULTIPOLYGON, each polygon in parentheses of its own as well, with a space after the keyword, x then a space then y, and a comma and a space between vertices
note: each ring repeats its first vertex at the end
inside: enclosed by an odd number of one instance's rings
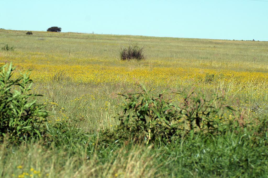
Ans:
MULTIPOLYGON (((119 62, 118 66, 99 64, 98 60, 88 65, 77 65, 73 62, 57 62, 39 59, 17 60, 13 77, 20 75, 19 71, 33 69, 31 79, 36 83, 60 81, 64 84, 75 82, 89 84, 124 84, 134 86, 137 83, 156 87, 181 89, 185 87, 201 87, 216 93, 229 93, 235 99, 255 98, 268 100, 268 73, 251 71, 212 70, 204 66, 190 67, 146 67, 131 63, 119 62), (44 61, 43 61, 44 60, 44 61), (43 62, 42 62, 43 61, 43 62), (49 62, 49 63, 47 63, 49 62), (211 77, 213 75, 213 77, 211 77)), ((80 62, 83 61, 82 59, 80 62)), ((159 65, 158 65, 159 66, 159 65)), ((62 84, 61 88, 64 88, 62 84)), ((34 89, 34 88, 33 88, 34 89)))

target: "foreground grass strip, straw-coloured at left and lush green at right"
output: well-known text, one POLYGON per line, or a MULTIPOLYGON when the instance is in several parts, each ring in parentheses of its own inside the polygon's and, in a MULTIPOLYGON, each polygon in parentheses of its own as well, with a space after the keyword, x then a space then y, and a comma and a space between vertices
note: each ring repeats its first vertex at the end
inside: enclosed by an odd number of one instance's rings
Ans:
POLYGON ((266 177, 267 144, 256 145, 250 135, 194 135, 166 146, 126 143, 95 150, 80 145, 72 150, 28 143, 2 144, 2 177, 30 173, 41 177, 266 177), (16 161, 14 161, 16 160, 16 161), (17 166, 22 165, 19 169, 17 166))

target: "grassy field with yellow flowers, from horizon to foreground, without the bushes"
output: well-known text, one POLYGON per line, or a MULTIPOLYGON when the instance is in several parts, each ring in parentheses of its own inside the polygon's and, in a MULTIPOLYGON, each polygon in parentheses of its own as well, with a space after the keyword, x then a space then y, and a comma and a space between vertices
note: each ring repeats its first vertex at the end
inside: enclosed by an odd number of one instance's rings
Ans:
MULTIPOLYGON (((178 104, 183 97, 174 92, 222 96, 235 109, 222 111, 225 120, 267 117, 268 42, 25 33, 0 29, 0 47, 15 48, 0 51, 0 66, 12 62, 14 78, 32 69, 31 93, 43 95, 38 102, 52 113, 48 123, 72 122, 92 139, 119 124, 124 97, 118 94, 139 91, 137 84, 178 104), (146 60, 119 59, 120 47, 132 42, 144 46, 146 60)), ((0 177, 267 177, 266 137, 256 144, 249 132, 230 131, 165 145, 125 141, 103 148, 98 139, 49 147, 42 140, 19 146, 3 141, 0 177)))

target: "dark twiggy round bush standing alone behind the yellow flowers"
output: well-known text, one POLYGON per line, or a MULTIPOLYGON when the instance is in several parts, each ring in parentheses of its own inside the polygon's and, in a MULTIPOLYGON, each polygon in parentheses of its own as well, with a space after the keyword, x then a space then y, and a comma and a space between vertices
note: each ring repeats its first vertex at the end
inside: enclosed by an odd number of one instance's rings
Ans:
POLYGON ((127 48, 121 48, 120 58, 122 60, 142 60, 144 59, 143 47, 139 47, 137 44, 130 44, 127 48))

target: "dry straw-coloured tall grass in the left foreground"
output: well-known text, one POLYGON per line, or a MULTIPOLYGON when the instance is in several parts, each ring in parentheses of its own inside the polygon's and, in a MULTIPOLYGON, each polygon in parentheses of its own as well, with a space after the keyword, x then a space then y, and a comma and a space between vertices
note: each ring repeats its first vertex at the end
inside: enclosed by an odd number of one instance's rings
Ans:
POLYGON ((38 143, 20 147, 6 147, 4 143, 0 177, 18 177, 23 173, 33 177, 155 177, 159 153, 151 150, 142 146, 115 147, 102 150, 105 153, 100 157, 94 150, 88 155, 84 147, 77 147, 75 154, 70 155, 57 148, 47 150, 38 143))

